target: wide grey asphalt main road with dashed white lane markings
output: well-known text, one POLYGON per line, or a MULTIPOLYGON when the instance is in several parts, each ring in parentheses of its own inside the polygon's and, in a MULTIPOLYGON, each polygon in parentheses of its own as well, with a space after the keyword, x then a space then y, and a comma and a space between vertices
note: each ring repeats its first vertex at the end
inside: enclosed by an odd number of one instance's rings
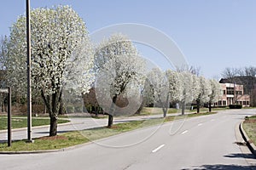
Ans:
POLYGON ((119 134, 73 150, 0 155, 0 169, 256 169, 252 154, 236 144, 241 139, 235 131, 244 116, 253 114, 256 110, 219 111, 119 134))

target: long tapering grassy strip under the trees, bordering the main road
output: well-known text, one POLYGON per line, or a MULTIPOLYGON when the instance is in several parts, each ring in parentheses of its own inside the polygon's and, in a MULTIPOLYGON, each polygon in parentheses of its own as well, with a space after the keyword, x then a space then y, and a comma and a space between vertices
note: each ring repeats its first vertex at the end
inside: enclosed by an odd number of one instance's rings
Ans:
POLYGON ((149 127, 164 122, 171 122, 185 117, 207 116, 212 113, 190 114, 186 116, 167 116, 166 118, 155 118, 143 121, 132 121, 114 124, 113 127, 96 127, 86 129, 83 131, 75 131, 68 133, 61 133, 56 137, 44 137, 34 139, 34 143, 26 144, 24 140, 13 142, 11 147, 6 143, 0 144, 0 151, 20 151, 20 150, 55 150, 73 146, 76 144, 84 144, 91 140, 107 138, 119 133, 125 133, 137 128, 149 127))

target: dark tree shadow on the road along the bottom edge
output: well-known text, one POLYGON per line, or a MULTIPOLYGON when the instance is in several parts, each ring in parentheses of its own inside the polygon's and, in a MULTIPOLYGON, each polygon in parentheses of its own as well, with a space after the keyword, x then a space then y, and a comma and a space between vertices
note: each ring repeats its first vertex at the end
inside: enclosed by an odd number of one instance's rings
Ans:
POLYGON ((255 170, 256 167, 254 166, 239 166, 239 165, 202 165, 200 167, 190 167, 190 168, 183 168, 182 170, 255 170))

